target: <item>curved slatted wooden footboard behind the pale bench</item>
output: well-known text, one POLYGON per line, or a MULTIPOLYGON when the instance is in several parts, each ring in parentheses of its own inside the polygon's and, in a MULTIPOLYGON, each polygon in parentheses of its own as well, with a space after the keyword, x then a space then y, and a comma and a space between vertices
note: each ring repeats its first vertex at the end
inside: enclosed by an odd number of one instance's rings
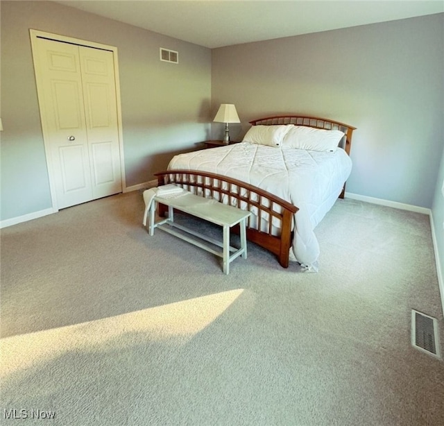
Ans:
MULTIPOLYGON (((174 183, 193 194, 252 212, 255 219, 252 216, 248 219, 247 238, 277 255, 281 266, 289 266, 291 225, 298 207, 246 182, 216 173, 173 170, 155 173, 155 176, 159 186, 174 183), (273 235, 276 228, 280 235, 273 235)), ((159 213, 163 216, 164 212, 160 205, 159 213)))

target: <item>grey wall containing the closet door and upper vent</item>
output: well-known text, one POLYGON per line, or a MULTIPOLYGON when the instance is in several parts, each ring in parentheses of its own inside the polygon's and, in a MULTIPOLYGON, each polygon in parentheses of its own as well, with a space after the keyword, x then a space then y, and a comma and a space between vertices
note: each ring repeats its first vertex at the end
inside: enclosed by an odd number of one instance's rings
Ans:
POLYGON ((126 184, 142 184, 210 132, 211 51, 50 1, 1 1, 0 222, 51 207, 29 28, 117 46, 126 184), (179 64, 159 49, 179 51, 179 64))

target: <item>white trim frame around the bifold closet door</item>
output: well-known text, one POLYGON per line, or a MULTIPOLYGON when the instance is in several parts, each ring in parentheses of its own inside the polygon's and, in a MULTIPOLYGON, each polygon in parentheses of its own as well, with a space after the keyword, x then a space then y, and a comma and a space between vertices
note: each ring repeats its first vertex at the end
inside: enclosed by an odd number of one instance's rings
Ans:
MULTIPOLYGON (((121 184, 122 184, 122 191, 126 192, 126 175, 125 175, 125 161, 123 157, 123 130, 122 130, 122 114, 121 114, 121 98, 120 98, 120 80, 119 80, 119 60, 117 56, 117 47, 116 46, 108 46, 107 44, 100 44, 96 42, 90 42, 87 40, 81 40, 74 37, 67 37, 65 35, 60 34, 53 34, 53 33, 46 33, 44 31, 29 30, 30 36, 31 36, 31 49, 33 51, 33 64, 34 64, 34 73, 38 69, 37 65, 37 46, 36 46, 36 40, 38 37, 40 38, 46 38, 49 40, 54 40, 56 42, 65 42, 70 44, 77 44, 78 46, 86 46, 86 47, 92 47, 95 49, 102 49, 107 51, 112 51, 113 57, 114 57, 114 79, 115 79, 115 88, 116 88, 116 101, 117 101, 117 126, 118 126, 118 137, 119 137, 119 154, 120 154, 120 171, 121 171, 121 184)), ((35 79, 36 85, 37 85, 37 76, 35 79)), ((52 209, 53 212, 58 212, 58 203, 57 203, 57 192, 56 192, 56 183, 55 183, 55 173, 53 171, 53 164, 51 160, 51 146, 49 144, 49 137, 48 137, 48 128, 46 127, 46 120, 43 117, 44 114, 44 99, 43 96, 39 93, 39 87, 37 85, 37 99, 39 103, 39 110, 40 110, 40 121, 42 123, 42 133, 43 133, 43 140, 44 140, 44 148, 45 148, 45 155, 46 155, 46 167, 48 169, 48 176, 49 176, 49 188, 51 191, 51 202, 52 202, 52 209)))

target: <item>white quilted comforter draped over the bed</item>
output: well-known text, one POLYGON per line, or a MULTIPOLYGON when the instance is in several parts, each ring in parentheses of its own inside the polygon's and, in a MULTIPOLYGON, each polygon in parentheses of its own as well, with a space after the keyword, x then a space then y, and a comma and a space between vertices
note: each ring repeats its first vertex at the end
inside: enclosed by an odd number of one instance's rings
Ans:
POLYGON ((293 254, 308 270, 317 271, 319 245, 314 228, 341 194, 352 162, 341 148, 330 153, 241 142, 176 155, 168 168, 230 176, 299 207, 293 254))

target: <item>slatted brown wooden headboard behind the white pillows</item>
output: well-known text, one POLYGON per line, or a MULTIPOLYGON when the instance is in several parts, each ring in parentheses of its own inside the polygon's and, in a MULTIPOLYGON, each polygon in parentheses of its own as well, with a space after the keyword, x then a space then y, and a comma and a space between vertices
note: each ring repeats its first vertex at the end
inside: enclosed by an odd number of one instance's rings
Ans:
POLYGON ((273 117, 265 117, 263 119, 257 119, 250 121, 252 126, 272 126, 273 124, 294 124, 295 126, 307 126, 314 128, 323 128, 326 130, 341 130, 344 133, 344 143, 341 148, 350 155, 350 149, 352 148, 352 133, 356 130, 355 127, 349 126, 339 121, 330 119, 322 119, 319 117, 309 117, 307 115, 275 115, 273 117))

